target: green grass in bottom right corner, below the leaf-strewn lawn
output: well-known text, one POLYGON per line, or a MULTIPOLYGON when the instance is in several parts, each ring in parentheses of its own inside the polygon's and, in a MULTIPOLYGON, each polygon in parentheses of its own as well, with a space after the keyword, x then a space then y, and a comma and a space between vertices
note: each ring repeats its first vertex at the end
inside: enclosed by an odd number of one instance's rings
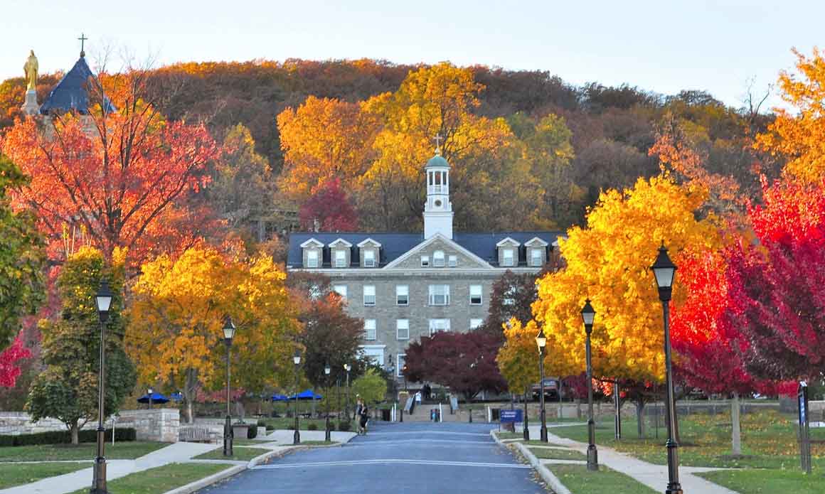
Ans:
POLYGON ((825 486, 822 471, 805 475, 796 470, 728 470, 695 473, 710 482, 733 489, 740 494, 821 494, 825 486))

